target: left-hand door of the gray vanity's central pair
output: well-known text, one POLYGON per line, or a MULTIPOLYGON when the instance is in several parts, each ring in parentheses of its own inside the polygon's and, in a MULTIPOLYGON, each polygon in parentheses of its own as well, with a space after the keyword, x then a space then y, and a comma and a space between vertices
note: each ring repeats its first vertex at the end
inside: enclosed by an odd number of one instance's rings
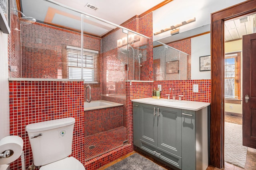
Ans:
POLYGON ((140 139, 157 146, 157 106, 140 104, 140 139))

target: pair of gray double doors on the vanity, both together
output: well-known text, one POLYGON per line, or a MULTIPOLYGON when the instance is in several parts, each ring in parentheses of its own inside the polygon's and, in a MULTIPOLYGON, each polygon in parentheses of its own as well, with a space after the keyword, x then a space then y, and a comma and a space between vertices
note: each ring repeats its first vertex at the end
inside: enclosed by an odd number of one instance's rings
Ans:
POLYGON ((140 139, 181 156, 181 109, 141 104, 140 139))

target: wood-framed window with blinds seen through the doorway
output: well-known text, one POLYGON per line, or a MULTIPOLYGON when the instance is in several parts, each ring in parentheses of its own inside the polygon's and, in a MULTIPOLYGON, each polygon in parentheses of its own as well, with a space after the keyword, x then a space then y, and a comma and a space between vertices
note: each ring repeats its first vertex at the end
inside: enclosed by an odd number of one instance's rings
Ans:
POLYGON ((225 55, 225 98, 240 100, 240 53, 225 55))

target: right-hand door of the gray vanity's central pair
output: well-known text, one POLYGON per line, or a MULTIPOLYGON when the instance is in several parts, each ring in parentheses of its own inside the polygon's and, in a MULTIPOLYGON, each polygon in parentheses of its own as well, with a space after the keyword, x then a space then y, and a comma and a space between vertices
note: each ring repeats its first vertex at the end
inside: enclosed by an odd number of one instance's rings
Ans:
POLYGON ((158 147, 181 156, 181 109, 158 108, 158 147))

